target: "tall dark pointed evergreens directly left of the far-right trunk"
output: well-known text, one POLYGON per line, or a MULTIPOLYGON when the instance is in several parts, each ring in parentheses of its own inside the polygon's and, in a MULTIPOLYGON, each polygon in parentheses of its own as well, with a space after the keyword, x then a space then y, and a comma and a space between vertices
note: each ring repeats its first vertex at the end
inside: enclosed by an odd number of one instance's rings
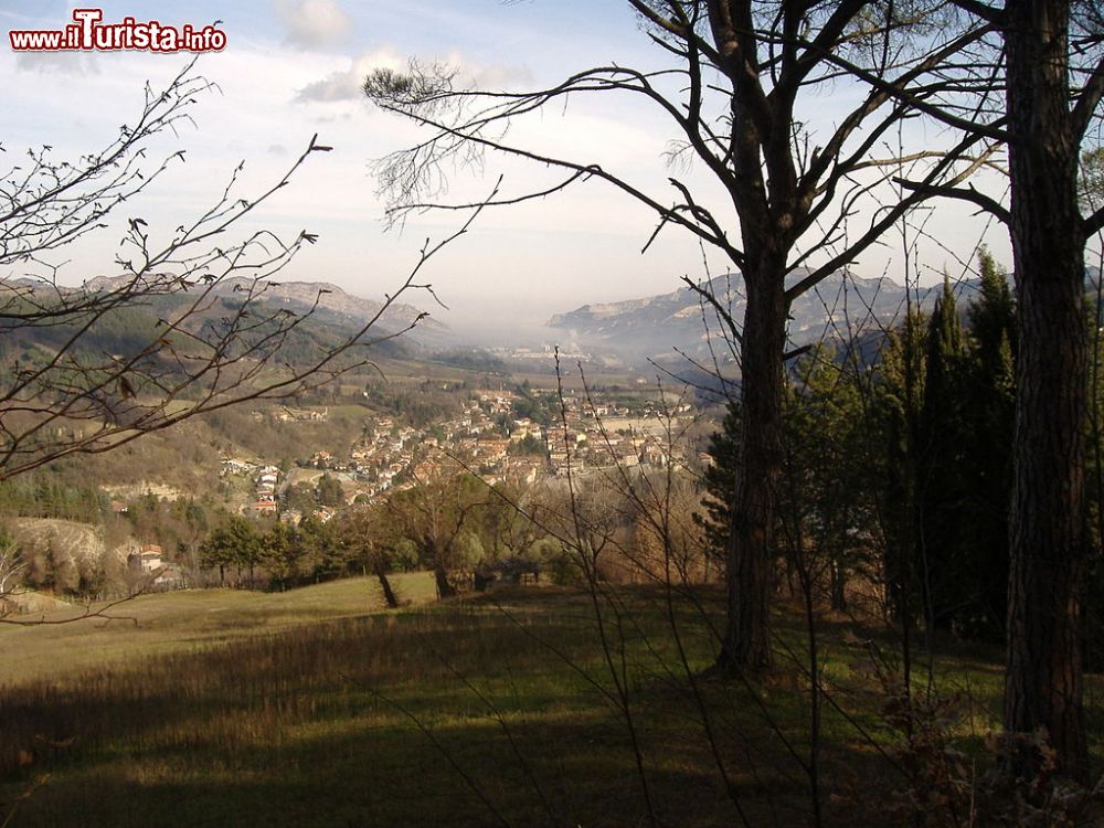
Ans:
POLYGON ((877 431, 885 574, 899 618, 999 638, 1008 578, 1016 305, 983 252, 964 333, 944 282, 932 316, 892 332, 879 367, 877 431))

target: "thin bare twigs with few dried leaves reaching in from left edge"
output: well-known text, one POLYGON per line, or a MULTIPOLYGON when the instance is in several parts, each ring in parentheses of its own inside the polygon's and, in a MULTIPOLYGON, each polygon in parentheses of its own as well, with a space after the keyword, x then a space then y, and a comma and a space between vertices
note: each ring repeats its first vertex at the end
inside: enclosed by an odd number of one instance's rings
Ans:
POLYGON ((127 215, 184 159, 180 150, 149 161, 153 139, 189 121, 210 88, 189 64, 164 91, 147 85, 138 117, 105 149, 70 162, 46 146, 0 177, 0 353, 9 362, 0 372, 0 479, 110 450, 203 412, 301 393, 370 364, 373 344, 422 318, 397 329, 384 319, 450 240, 427 242, 405 280, 354 330, 311 330, 326 290, 299 310, 268 300, 272 277, 317 235, 245 225, 310 157, 330 150, 317 136, 259 194, 237 192, 240 166, 213 205, 170 232, 127 215), (113 217, 126 227, 114 276, 65 286, 52 254, 109 231, 113 217), (390 331, 380 331, 381 319, 390 331), (288 346, 296 346, 294 361, 282 352, 288 346))

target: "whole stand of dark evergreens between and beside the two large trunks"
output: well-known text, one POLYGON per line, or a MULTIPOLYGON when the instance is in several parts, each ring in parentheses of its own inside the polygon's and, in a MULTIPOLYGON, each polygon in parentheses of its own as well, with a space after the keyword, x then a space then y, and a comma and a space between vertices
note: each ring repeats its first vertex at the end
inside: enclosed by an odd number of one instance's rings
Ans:
MULTIPOLYGON (((948 282, 909 309, 874 364, 821 346, 789 372, 778 498, 779 571, 826 603, 875 601, 905 626, 1000 640, 1017 359, 1016 302, 991 256, 975 299, 948 282), (965 325, 964 325, 965 322, 965 325)), ((1087 320, 1086 320, 1087 321, 1087 320)), ((739 404, 713 438, 704 528, 728 543, 739 404)))

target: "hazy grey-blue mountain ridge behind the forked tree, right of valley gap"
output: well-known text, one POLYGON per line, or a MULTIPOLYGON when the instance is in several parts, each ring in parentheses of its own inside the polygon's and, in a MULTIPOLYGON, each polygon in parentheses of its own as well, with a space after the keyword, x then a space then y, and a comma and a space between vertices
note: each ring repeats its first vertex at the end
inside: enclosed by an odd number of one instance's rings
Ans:
MULTIPOLYGON (((794 273, 787 285, 799 282, 807 270, 794 273)), ((700 285, 737 323, 743 319, 746 298, 740 274, 725 274, 700 285)), ((942 285, 912 289, 912 300, 931 309, 942 285)), ((955 285, 959 300, 973 297, 973 280, 955 285)), ((866 279, 829 274, 816 287, 799 296, 790 308, 789 340, 796 346, 824 337, 842 336, 891 326, 904 315, 909 294, 890 278, 866 279)), ((628 357, 679 359, 677 351, 697 358, 728 354, 722 341, 729 333, 718 312, 688 285, 668 294, 643 299, 583 305, 548 321, 578 344, 601 346, 628 357)), ((728 360, 725 360, 728 361, 728 360)))

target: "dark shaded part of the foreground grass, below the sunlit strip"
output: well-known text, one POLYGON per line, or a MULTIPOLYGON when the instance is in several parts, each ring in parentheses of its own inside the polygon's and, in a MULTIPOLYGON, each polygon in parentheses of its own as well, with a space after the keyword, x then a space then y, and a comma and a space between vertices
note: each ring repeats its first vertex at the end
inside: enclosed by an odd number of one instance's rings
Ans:
MULTIPOLYGON (((14 826, 623 826, 649 824, 648 800, 657 825, 736 825, 737 805, 750 825, 811 822, 799 671, 696 696, 655 592, 629 593, 634 743, 585 602, 505 597, 0 691, 0 798, 47 771, 14 826)), ((700 614, 677 617, 707 662, 700 614)), ((864 692, 845 701, 872 726, 884 700, 864 692)), ((877 813, 901 787, 831 711, 821 761, 825 803, 859 792, 877 813)))

